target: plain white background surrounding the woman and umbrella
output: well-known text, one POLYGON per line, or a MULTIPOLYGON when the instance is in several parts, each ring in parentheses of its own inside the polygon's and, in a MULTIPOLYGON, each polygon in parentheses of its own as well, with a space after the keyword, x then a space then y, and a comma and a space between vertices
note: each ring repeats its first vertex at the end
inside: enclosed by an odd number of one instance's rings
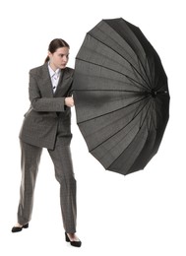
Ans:
POLYGON ((0 4, 0 254, 185 256, 185 7, 177 0, 6 0, 0 4), (155 158, 139 172, 105 171, 88 153, 72 111, 72 155, 78 182, 81 248, 64 240, 59 184, 44 151, 29 229, 12 233, 21 179, 18 134, 29 108, 29 70, 43 63, 49 42, 71 45, 69 66, 86 32, 120 18, 140 27, 168 77, 170 119, 155 158))

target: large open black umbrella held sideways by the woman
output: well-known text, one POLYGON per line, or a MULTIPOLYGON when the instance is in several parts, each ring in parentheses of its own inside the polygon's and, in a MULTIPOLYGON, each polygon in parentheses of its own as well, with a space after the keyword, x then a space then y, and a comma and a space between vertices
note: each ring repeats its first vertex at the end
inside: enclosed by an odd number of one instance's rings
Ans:
POLYGON ((154 47, 123 19, 102 20, 77 54, 78 126, 105 169, 128 174, 155 156, 169 117, 167 78, 154 47))

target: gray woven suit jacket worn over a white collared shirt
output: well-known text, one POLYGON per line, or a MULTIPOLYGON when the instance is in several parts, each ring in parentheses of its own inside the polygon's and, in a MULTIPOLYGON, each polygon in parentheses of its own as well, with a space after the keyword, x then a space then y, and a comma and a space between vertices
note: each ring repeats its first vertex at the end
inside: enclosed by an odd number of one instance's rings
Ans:
POLYGON ((65 106, 64 100, 69 96, 74 70, 61 70, 58 87, 53 94, 47 65, 48 63, 45 63, 30 71, 31 107, 25 114, 20 139, 37 147, 53 149, 58 127, 61 137, 72 136, 71 110, 65 106))

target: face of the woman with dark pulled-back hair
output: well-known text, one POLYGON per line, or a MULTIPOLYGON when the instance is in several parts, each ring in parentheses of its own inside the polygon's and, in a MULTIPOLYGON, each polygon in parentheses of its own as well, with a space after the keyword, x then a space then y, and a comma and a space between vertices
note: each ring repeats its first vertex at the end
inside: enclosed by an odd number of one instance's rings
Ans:
POLYGON ((58 48, 54 53, 48 52, 50 58, 50 67, 55 71, 56 69, 64 69, 69 60, 69 48, 58 48))

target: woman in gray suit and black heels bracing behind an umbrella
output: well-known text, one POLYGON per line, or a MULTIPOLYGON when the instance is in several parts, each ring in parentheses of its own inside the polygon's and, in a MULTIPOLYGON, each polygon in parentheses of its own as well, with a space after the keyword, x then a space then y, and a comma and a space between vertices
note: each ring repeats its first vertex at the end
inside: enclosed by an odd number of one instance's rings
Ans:
POLYGON ((13 232, 29 227, 33 192, 42 148, 46 148, 60 183, 60 203, 66 241, 80 247, 76 236, 76 179, 70 153, 71 107, 70 90, 74 70, 66 67, 69 44, 53 39, 45 63, 30 71, 31 107, 25 114, 20 132, 22 150, 22 182, 18 208, 18 224, 13 232))

